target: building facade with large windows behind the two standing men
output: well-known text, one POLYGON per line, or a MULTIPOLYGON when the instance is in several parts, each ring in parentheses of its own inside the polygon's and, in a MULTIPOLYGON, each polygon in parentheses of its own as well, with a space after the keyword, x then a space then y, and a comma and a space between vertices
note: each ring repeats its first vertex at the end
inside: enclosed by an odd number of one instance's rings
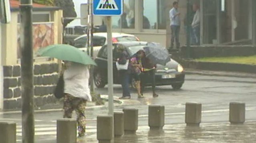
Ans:
MULTIPOLYGON (((186 43, 183 20, 187 0, 123 0, 122 16, 112 18, 113 31, 131 33, 142 41, 155 41, 169 47, 169 10, 174 1, 181 12, 181 45, 186 43)), ((255 0, 189 0, 200 5, 200 45, 255 44, 255 0)))

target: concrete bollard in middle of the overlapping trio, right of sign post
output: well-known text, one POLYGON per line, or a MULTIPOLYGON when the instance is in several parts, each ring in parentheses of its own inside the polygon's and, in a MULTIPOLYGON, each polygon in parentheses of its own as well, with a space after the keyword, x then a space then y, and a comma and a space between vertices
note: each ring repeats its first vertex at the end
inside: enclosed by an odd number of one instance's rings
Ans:
POLYGON ((123 112, 114 112, 114 133, 115 137, 122 136, 124 133, 123 112))

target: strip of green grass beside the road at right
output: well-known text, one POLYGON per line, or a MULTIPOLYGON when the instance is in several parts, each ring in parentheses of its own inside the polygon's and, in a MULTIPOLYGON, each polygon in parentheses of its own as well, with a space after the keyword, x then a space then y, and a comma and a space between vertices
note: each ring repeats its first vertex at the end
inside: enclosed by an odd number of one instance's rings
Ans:
POLYGON ((256 65, 256 55, 246 57, 204 57, 196 59, 196 61, 256 65))

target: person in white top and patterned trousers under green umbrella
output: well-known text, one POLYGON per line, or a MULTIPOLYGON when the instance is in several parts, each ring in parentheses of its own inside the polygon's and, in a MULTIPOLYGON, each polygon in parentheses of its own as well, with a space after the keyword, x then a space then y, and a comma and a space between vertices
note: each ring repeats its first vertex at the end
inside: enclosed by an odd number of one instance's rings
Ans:
POLYGON ((72 112, 77 113, 79 137, 85 136, 85 106, 92 101, 89 89, 89 68, 74 62, 65 62, 63 74, 64 86, 64 115, 63 118, 72 118, 72 112))

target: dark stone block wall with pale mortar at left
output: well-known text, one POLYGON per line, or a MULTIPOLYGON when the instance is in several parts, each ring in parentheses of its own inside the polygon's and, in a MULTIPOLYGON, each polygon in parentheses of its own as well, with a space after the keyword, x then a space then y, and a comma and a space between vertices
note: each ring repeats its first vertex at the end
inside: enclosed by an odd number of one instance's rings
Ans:
MULTIPOLYGON (((21 108, 20 65, 4 66, 4 110, 21 108)), ((56 102, 53 95, 58 80, 58 64, 34 65, 34 105, 56 102)))

